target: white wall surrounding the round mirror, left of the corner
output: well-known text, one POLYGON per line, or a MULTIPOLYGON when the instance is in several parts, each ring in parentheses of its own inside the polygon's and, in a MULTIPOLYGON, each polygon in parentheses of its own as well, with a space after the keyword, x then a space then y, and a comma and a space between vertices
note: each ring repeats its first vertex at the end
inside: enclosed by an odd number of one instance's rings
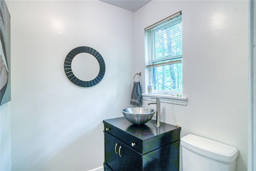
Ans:
POLYGON ((10 1, 12 170, 86 171, 104 162, 102 120, 129 105, 134 14, 100 1, 10 1), (60 33, 59 33, 60 32, 60 33), (64 59, 96 49, 106 73, 92 88, 71 83, 64 59))

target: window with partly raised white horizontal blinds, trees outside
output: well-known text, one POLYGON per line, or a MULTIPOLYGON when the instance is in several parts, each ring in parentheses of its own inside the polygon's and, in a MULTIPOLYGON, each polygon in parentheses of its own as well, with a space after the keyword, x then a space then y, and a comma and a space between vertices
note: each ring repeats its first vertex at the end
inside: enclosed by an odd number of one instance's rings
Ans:
POLYGON ((145 29, 146 83, 154 94, 182 95, 182 16, 178 12, 145 29))

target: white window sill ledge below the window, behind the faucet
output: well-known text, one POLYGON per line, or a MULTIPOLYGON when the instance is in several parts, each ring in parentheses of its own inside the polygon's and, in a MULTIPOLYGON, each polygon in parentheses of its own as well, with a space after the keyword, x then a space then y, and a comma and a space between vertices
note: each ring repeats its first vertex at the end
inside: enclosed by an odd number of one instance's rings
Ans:
POLYGON ((180 104, 180 105, 187 105, 188 98, 187 97, 177 97, 171 95, 164 95, 164 94, 142 94, 143 100, 148 101, 155 101, 152 98, 160 97, 161 102, 164 103, 171 103, 171 104, 180 104))

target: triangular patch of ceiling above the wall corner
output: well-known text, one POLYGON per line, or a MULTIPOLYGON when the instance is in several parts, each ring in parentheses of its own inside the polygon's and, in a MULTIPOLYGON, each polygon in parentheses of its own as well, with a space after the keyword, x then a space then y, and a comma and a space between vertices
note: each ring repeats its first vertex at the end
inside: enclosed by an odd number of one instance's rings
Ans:
POLYGON ((100 0, 108 4, 124 8, 126 10, 136 12, 142 6, 148 4, 151 0, 100 0))

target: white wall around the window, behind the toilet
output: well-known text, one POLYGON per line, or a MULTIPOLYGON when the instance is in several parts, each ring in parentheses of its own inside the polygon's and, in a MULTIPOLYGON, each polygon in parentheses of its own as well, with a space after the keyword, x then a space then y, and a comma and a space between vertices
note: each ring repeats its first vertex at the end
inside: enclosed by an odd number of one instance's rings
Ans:
MULTIPOLYGON (((248 143, 248 1, 153 0, 135 12, 135 69, 144 75, 144 28, 182 10, 183 95, 161 103, 162 121, 237 147, 245 171, 248 143)), ((147 83, 143 84, 147 85, 147 83)), ((146 101, 144 102, 144 106, 146 101)), ((150 106, 154 108, 154 106, 150 106)))

